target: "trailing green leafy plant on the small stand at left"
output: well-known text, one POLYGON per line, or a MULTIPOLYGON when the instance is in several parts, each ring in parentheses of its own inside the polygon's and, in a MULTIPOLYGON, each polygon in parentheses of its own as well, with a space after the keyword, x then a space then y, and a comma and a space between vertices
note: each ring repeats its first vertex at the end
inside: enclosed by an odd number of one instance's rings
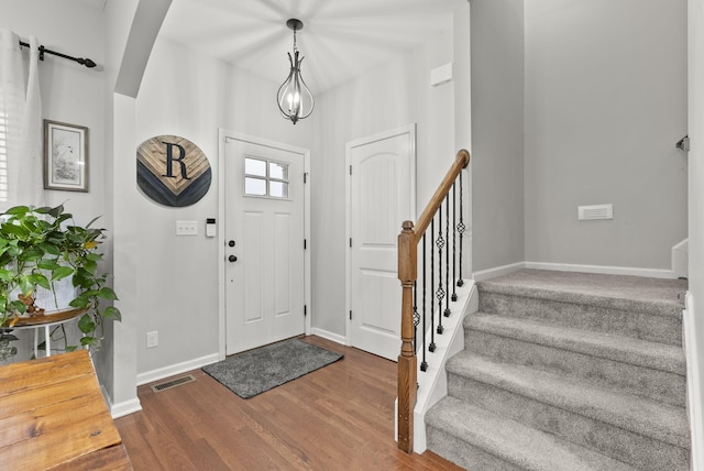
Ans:
MULTIPOLYGON (((80 346, 99 349, 106 320, 121 320, 114 306, 105 302, 118 299, 106 285, 107 273, 100 273, 102 254, 97 251, 106 238, 105 229, 77 226, 64 206, 34 208, 15 206, 0 215, 0 359, 16 353, 12 328, 33 316, 43 316, 51 306, 37 306, 40 291, 48 292, 56 302, 56 286, 70 281, 73 299, 67 309, 80 309, 78 329, 80 346), (74 297, 75 296, 75 297, 74 297)), ((58 303, 54 303, 57 305, 58 303)), ((61 309, 61 306, 54 306, 61 309)), ((67 344, 62 329, 64 348, 67 344)))

